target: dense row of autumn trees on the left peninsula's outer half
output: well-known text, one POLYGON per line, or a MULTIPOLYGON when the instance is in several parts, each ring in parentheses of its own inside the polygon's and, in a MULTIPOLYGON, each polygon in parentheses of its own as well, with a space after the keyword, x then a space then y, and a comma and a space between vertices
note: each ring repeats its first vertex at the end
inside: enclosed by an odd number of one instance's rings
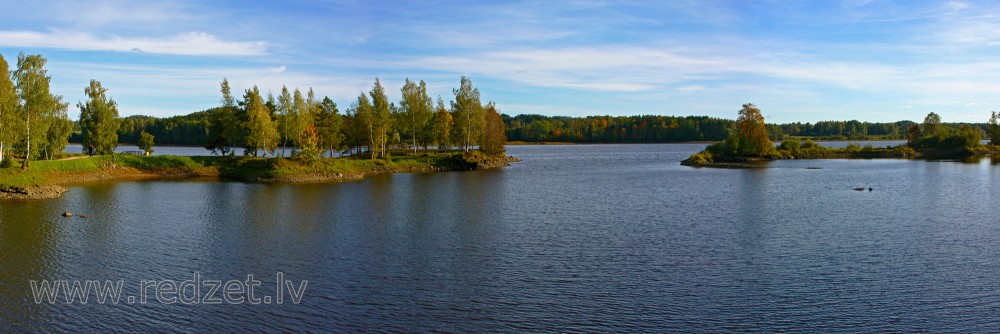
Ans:
MULTIPOLYGON (((310 88, 305 95, 296 88, 282 87, 277 97, 265 98, 254 86, 246 89, 242 100, 231 93, 229 81, 220 84, 221 106, 203 113, 204 147, 219 155, 284 156, 279 147, 292 148, 290 156, 316 159, 328 153, 364 154, 371 159, 387 158, 393 146, 439 150, 478 148, 487 155, 502 155, 506 145, 506 125, 496 104, 480 102, 479 89, 472 80, 462 77, 453 90, 455 100, 448 106, 442 98, 437 103, 427 93, 424 81, 406 79, 400 90, 399 104, 391 102, 379 79, 368 92, 361 92, 344 111, 329 97, 318 99, 310 88)), ((196 132, 197 116, 188 115, 163 122, 166 133, 171 125, 179 131, 196 132)), ((157 121, 134 119, 127 122, 134 133, 157 121)), ((161 140, 161 143, 164 143, 161 140)))

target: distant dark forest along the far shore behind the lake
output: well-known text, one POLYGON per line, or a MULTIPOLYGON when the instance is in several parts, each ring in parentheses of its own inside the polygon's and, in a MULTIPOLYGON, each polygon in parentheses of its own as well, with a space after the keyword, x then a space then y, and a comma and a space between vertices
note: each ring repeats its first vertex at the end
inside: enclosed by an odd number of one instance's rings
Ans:
MULTIPOLYGON (((209 118, 214 109, 188 115, 156 118, 129 116, 122 120, 118 138, 122 143, 136 143, 140 133, 156 137, 157 145, 204 146, 209 118)), ((671 143, 719 141, 726 138, 733 120, 708 116, 542 116, 502 115, 509 141, 573 143, 671 143)), ((905 139, 906 130, 916 123, 870 123, 823 121, 816 123, 767 124, 772 140, 786 136, 812 137, 819 140, 905 139)), ((986 123, 945 123, 948 128, 970 125, 987 132, 986 123)), ((79 143, 76 129, 70 141, 79 143)))

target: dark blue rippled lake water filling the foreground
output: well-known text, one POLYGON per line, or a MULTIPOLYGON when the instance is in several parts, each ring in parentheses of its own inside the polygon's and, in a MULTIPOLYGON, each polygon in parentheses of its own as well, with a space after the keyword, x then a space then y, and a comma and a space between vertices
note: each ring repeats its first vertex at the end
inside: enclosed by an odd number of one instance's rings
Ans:
POLYGON ((989 159, 678 164, 704 146, 514 146, 523 162, 490 171, 96 183, 3 202, 0 329, 1000 330, 989 159), (135 296, 195 272, 253 274, 258 297, 277 296, 277 272, 308 284, 280 305, 37 304, 29 285, 123 280, 135 296))

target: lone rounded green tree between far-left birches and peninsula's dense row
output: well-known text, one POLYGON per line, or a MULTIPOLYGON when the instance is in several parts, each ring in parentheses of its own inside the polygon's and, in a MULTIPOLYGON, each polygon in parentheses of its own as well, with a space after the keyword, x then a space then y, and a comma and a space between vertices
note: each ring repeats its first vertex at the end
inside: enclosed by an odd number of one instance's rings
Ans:
POLYGON ((94 146, 97 154, 111 154, 118 147, 118 103, 107 96, 108 89, 101 82, 90 80, 84 88, 86 102, 77 103, 80 108, 80 129, 83 132, 83 147, 94 146))

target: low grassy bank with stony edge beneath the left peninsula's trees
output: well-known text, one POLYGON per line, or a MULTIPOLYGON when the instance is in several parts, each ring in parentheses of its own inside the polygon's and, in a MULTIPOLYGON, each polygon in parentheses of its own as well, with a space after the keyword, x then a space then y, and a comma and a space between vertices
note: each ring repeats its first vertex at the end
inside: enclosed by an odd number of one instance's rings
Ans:
POLYGON ((303 161, 291 158, 106 155, 33 161, 0 168, 0 191, 86 181, 217 176, 251 182, 323 182, 353 180, 392 172, 472 170, 505 166, 512 157, 486 157, 479 152, 400 154, 389 159, 337 158, 303 161))

